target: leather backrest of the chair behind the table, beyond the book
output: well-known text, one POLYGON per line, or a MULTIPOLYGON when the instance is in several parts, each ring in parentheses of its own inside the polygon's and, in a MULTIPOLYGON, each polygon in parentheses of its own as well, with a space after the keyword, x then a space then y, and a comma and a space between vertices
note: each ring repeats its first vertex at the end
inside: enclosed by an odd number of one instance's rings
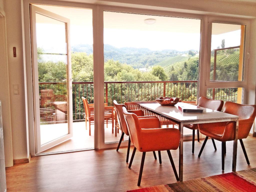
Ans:
POLYGON ((206 97, 200 97, 197 103, 199 107, 204 107, 204 108, 212 109, 216 111, 221 111, 223 104, 224 102, 222 100, 213 100, 213 99, 208 99, 206 97))

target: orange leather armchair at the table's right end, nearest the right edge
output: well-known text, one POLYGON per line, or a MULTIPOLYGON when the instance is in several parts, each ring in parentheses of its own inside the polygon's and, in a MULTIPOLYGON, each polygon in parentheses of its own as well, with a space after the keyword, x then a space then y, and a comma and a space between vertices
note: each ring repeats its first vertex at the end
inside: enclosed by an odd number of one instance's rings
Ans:
MULTIPOLYGON (((249 159, 246 154, 246 150, 243 145, 243 138, 247 138, 251 130, 252 124, 256 116, 256 105, 242 105, 230 101, 226 101, 223 112, 239 116, 238 124, 238 139, 241 143, 244 156, 247 164, 249 165, 249 159)), ((226 141, 233 141, 236 137, 236 122, 219 122, 219 123, 205 123, 198 124, 199 131, 206 135, 205 141, 202 145, 198 157, 204 149, 208 137, 221 141, 221 158, 222 158, 222 170, 224 170, 224 155, 226 154, 226 141)))

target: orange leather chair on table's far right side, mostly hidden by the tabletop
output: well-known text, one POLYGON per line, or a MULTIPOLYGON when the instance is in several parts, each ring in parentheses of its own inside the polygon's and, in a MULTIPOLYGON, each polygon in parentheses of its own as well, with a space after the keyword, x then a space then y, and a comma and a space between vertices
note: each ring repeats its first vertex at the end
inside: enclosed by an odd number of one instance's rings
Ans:
MULTIPOLYGON (((197 105, 199 107, 204 107, 216 111, 221 111, 223 107, 224 102, 222 100, 213 100, 213 99, 208 99, 206 97, 199 97, 197 105)), ((188 129, 193 130, 193 135, 192 135, 192 153, 194 153, 195 149, 195 130, 197 130, 197 141, 199 142, 199 130, 197 124, 190 124, 190 125, 184 125, 184 127, 187 127, 188 129)), ((214 139, 212 138, 212 143, 214 146, 214 149, 217 150, 214 139)))

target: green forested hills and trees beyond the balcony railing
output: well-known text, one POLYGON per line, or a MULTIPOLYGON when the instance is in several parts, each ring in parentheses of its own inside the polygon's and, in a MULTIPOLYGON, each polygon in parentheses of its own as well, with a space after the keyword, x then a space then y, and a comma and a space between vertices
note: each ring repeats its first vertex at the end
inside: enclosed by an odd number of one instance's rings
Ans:
MULTIPOLYGON (((73 48, 71 53, 71 66, 72 66, 72 81, 73 82, 93 82, 93 55, 73 48)), ((121 52, 124 51, 123 48, 121 52)), ((104 56, 104 80, 106 82, 112 81, 184 81, 184 80, 198 80, 198 65, 199 54, 196 51, 177 52, 175 50, 167 51, 149 51, 142 49, 138 51, 137 48, 126 48, 130 51, 130 55, 124 53, 117 54, 121 58, 111 57, 110 52, 108 56, 104 56), (133 51, 133 52, 132 52, 133 51), (137 52, 137 53, 136 53, 137 52), (109 58, 109 59, 106 59, 109 58), (116 59, 114 59, 116 58, 116 59), (130 59, 129 59, 130 58, 130 59), (136 60, 136 58, 140 58, 136 60), (151 58, 151 59, 148 59, 151 58), (158 59, 157 59, 158 58, 158 59), (129 60, 129 62, 124 62, 129 60), (141 64, 140 64, 141 63, 141 64), (146 71, 140 71, 138 67, 144 67, 146 71)), ((65 82, 66 81, 66 63, 63 61, 51 61, 44 58, 44 51, 38 48, 38 77, 39 82, 65 82)), ((88 51, 90 52, 90 51, 88 51)), ((119 51, 120 52, 120 51, 119 51)), ((211 71, 210 78, 213 78, 213 52, 211 55, 211 71)), ((237 80, 238 78, 238 65, 239 65, 239 49, 221 50, 217 52, 216 58, 216 80, 237 80)), ((120 84, 121 85, 121 84, 120 84)), ((125 86, 125 84, 123 84, 125 86)), ((86 93, 84 86, 88 84, 73 85, 73 105, 81 106, 81 100, 78 95, 86 94, 88 102, 93 103, 93 84, 87 87, 86 93), (83 91, 82 91, 83 90, 83 91), (90 93, 88 95, 88 93, 90 93)), ((126 87, 114 87, 115 84, 108 84, 108 102, 112 104, 113 99, 120 101, 137 101, 137 100, 154 100, 156 95, 163 94, 163 83, 134 83, 126 87), (157 90, 156 90, 157 86, 157 90), (115 94, 111 92, 115 90, 115 94), (127 90, 130 90, 130 92, 127 90), (119 96, 118 96, 119 95, 119 96), (146 95, 150 95, 146 97, 146 95)), ((116 84, 118 86, 118 84, 116 84)), ((180 97, 182 100, 196 100, 197 83, 171 83, 166 86, 166 95, 180 97)), ((65 86, 54 89, 55 94, 66 94, 65 86)), ((40 89, 46 89, 46 86, 41 86, 40 89)), ((225 100, 229 94, 230 89, 218 89, 215 91, 219 99, 225 100)), ((237 88, 231 90, 233 98, 237 94, 237 88)), ((209 91, 209 98, 212 98, 212 93, 209 91)), ((106 95, 105 95, 106 98, 106 95)), ((81 111, 73 106, 73 111, 81 118, 81 111)), ((82 106, 80 107, 82 109, 82 106)), ((79 109, 80 109, 79 108, 79 109)), ((74 117, 76 118, 76 116, 74 117)))

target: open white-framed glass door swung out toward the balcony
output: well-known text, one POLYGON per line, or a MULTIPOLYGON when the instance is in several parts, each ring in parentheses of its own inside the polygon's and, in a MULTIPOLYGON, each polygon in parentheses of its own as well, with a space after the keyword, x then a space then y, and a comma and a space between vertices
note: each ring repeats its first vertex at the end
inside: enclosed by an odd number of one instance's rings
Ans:
POLYGON ((30 5, 36 153, 72 137, 69 19, 30 5))

